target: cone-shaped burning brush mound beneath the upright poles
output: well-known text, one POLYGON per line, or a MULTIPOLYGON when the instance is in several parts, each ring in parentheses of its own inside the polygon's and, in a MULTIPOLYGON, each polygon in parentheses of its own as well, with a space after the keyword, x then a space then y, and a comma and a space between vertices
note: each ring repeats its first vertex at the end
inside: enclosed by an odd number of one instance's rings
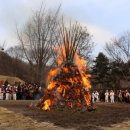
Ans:
MULTIPOLYGON (((66 63, 59 73, 53 78, 44 92, 43 101, 50 102, 51 107, 68 107, 82 109, 90 106, 91 96, 83 86, 82 77, 78 67, 72 63, 66 63)), ((46 102, 42 102, 44 110, 46 102)))

